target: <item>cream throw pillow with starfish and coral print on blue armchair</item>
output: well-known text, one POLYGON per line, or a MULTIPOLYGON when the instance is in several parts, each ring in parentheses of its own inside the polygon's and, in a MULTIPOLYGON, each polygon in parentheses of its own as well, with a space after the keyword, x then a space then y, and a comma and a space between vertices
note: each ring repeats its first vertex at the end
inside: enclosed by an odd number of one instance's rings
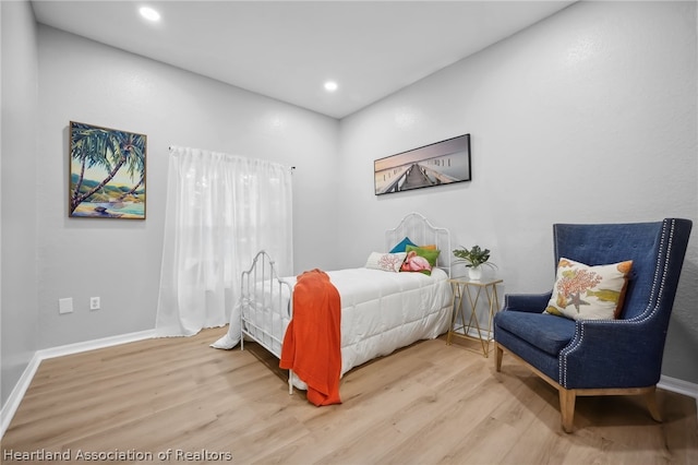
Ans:
POLYGON ((588 266, 561 258, 553 296, 545 312, 573 320, 618 318, 631 269, 631 260, 588 266))

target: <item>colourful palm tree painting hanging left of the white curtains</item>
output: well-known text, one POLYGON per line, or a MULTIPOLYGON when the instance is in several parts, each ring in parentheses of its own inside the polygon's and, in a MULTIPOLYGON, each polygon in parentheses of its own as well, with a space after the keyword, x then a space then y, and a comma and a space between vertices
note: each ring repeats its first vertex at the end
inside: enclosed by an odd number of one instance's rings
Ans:
POLYGON ((145 219, 145 134, 70 122, 69 216, 145 219))

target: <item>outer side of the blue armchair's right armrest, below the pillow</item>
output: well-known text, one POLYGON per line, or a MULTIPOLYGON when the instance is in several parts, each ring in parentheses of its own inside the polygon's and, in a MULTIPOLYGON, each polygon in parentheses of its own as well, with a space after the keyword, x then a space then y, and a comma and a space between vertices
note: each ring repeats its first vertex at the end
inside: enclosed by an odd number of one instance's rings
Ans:
POLYGON ((559 353, 565 388, 643 388, 659 382, 665 331, 652 331, 652 322, 629 320, 576 324, 575 337, 559 353))

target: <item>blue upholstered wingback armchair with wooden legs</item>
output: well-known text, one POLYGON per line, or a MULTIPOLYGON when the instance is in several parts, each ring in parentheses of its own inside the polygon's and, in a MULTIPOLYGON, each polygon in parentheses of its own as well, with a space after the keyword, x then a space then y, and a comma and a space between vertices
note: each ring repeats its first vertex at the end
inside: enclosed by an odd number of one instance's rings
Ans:
POLYGON ((591 266, 633 260, 622 313, 573 320, 543 313, 552 293, 506 295, 493 322, 496 371, 507 353, 556 388, 566 432, 580 395, 643 395, 661 421, 655 386, 691 225, 678 218, 554 225, 556 264, 561 258, 591 266))

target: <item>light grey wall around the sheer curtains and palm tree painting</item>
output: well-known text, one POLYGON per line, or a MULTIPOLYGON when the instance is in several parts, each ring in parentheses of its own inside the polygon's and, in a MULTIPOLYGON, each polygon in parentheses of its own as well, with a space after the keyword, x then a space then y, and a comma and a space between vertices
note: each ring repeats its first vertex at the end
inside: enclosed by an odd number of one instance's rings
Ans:
POLYGON ((332 264, 337 120, 47 26, 38 44, 39 348, 154 327, 169 145, 296 166, 296 266, 332 264), (146 220, 68 217, 71 120, 147 134, 146 220))

